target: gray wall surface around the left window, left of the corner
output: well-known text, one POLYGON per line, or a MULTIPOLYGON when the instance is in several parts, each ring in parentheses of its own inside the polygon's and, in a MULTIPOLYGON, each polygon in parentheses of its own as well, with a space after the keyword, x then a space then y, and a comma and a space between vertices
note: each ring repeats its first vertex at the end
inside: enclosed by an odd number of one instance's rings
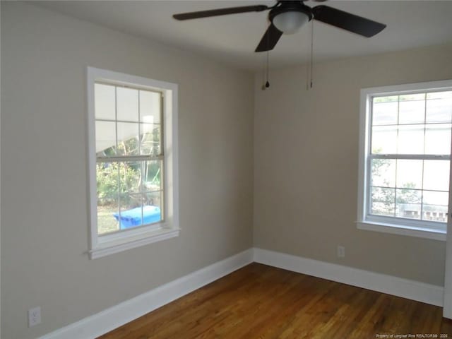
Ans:
POLYGON ((1 6, 2 338, 36 338, 252 246, 251 73, 1 6), (86 66, 179 84, 179 237, 88 259, 86 66), (27 328, 38 305, 42 324, 27 328))

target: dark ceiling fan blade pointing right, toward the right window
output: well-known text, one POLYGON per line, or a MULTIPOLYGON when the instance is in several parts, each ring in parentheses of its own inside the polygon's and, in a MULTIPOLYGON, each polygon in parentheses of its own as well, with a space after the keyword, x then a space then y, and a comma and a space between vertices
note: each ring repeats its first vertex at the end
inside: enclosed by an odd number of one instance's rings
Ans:
POLYGON ((364 35, 364 37, 373 37, 386 27, 383 23, 377 23, 374 20, 355 16, 355 14, 325 5, 315 6, 312 8, 312 13, 314 13, 314 19, 316 20, 364 35))

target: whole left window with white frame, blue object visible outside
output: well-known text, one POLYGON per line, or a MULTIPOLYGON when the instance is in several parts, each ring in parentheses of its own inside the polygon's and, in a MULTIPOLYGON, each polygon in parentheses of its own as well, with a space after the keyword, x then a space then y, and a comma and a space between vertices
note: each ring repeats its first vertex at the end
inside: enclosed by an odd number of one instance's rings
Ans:
POLYGON ((90 257, 179 234, 177 85, 88 68, 90 257))

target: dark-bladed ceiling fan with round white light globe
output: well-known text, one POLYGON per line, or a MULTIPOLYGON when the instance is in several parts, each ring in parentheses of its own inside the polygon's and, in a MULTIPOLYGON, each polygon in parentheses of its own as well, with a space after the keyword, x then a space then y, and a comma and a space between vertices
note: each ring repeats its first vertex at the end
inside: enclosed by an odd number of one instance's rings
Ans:
POLYGON ((273 49, 278 40, 280 40, 281 35, 297 32, 302 25, 312 19, 363 35, 364 37, 373 37, 386 27, 383 23, 377 23, 374 20, 355 16, 355 14, 340 11, 330 6, 319 5, 311 8, 303 4, 303 2, 304 0, 278 0, 275 6, 271 7, 266 5, 254 5, 219 8, 208 11, 174 14, 173 18, 177 20, 189 20, 207 18, 210 16, 225 16, 227 14, 270 10, 268 13, 270 25, 263 35, 261 42, 259 42, 256 47, 255 52, 265 52, 273 49))

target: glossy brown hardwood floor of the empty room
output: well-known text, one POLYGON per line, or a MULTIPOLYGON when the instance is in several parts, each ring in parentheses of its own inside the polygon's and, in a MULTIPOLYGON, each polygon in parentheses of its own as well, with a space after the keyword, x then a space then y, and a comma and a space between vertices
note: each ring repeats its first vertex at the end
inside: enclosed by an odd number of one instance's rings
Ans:
POLYGON ((441 314, 441 307, 251 263, 99 339, 452 338, 452 321, 441 314))

